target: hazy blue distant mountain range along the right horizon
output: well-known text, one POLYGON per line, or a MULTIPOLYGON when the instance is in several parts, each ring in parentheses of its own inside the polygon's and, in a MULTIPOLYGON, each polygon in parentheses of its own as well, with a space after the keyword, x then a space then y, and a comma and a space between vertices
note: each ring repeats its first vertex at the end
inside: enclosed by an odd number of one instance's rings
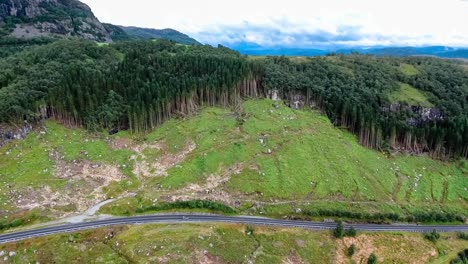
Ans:
POLYGON ((289 48, 289 47, 263 47, 255 43, 237 43, 227 45, 245 55, 271 55, 271 56, 323 56, 330 53, 373 54, 376 56, 436 56, 441 58, 468 59, 468 48, 453 48, 445 46, 428 47, 353 47, 353 48, 289 48))

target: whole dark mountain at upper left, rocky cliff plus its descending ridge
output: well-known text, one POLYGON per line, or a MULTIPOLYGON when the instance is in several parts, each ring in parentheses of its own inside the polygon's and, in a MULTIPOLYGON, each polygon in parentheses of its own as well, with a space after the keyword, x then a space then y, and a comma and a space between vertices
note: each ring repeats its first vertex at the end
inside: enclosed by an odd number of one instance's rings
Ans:
POLYGON ((168 39, 200 43, 174 29, 151 29, 101 23, 78 0, 0 0, 0 38, 79 37, 98 42, 168 39))

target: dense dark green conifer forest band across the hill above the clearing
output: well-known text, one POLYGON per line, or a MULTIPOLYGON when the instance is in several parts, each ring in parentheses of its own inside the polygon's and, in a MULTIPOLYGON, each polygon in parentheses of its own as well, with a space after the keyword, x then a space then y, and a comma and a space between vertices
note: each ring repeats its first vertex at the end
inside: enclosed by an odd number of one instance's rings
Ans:
POLYGON ((145 132, 203 106, 236 106, 276 91, 324 111, 368 147, 468 156, 468 71, 455 61, 358 54, 251 59, 222 46, 163 40, 40 42, 1 57, 3 123, 52 117, 89 130, 145 132), (401 87, 427 102, 391 100, 401 87))

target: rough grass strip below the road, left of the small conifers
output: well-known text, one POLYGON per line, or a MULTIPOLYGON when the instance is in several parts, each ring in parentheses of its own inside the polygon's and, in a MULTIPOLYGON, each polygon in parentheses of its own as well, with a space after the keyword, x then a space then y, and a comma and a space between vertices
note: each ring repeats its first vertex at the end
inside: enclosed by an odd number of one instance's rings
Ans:
POLYGON ((143 225, 50 236, 0 250, 17 252, 15 263, 283 263, 289 256, 326 263, 334 249, 325 232, 253 230, 247 234, 244 226, 230 224, 143 225), (111 232, 114 237, 106 239, 111 232))

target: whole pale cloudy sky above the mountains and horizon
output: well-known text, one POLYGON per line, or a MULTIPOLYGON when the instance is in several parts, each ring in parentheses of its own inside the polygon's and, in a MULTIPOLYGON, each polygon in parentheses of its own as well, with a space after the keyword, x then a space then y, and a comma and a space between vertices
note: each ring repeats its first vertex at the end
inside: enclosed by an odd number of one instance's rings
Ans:
POLYGON ((82 0, 102 22, 227 46, 468 47, 468 0, 82 0))

